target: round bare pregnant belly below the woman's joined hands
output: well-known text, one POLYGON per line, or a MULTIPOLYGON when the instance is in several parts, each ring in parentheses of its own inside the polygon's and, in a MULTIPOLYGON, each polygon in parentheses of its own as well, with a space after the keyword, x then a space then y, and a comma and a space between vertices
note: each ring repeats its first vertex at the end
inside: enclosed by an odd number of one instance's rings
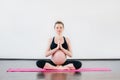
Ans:
POLYGON ((57 65, 61 65, 66 61, 66 55, 61 50, 58 50, 52 55, 52 61, 57 65))

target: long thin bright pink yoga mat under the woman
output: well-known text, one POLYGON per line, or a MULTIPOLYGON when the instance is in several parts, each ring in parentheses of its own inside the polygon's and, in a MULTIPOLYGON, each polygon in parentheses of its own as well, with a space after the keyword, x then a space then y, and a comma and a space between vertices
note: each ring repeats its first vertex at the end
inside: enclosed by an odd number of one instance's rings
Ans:
POLYGON ((55 70, 41 68, 9 68, 7 72, 91 72, 91 71, 111 71, 109 68, 80 68, 77 70, 55 70))

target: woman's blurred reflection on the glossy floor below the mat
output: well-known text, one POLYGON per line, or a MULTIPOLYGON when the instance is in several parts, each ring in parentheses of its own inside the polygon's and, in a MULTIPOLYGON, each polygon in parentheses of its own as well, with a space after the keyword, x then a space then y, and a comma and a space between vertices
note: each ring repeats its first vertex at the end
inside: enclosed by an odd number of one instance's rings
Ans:
MULTIPOLYGON (((67 80, 68 77, 79 77, 81 76, 80 72, 40 72, 37 74, 37 79, 45 80, 67 80)), ((75 79, 73 79, 75 80, 75 79)))

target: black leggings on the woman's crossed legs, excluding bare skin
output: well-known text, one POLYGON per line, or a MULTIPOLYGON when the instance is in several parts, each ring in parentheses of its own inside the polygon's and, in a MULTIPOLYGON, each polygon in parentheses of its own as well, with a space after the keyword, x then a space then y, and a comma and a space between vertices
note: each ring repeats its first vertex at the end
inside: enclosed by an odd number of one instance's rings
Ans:
MULTIPOLYGON (((39 67, 39 68, 43 68, 45 66, 45 63, 50 63, 51 65, 53 66, 56 66, 56 64, 54 64, 51 60, 38 60, 36 62, 36 65, 39 67)), ((80 61, 77 61, 77 60, 66 60, 65 63, 62 64, 62 66, 64 65, 67 65, 67 64, 70 64, 72 63, 73 66, 76 68, 76 69, 79 69, 81 68, 82 66, 82 63, 80 61)))

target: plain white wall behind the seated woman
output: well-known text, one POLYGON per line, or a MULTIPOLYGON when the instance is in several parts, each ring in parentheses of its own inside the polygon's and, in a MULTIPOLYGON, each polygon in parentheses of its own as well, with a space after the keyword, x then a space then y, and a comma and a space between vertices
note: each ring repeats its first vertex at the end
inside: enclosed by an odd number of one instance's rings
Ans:
POLYGON ((120 58, 119 4, 120 0, 0 0, 0 58, 45 58, 57 20, 65 24, 73 58, 120 58))

